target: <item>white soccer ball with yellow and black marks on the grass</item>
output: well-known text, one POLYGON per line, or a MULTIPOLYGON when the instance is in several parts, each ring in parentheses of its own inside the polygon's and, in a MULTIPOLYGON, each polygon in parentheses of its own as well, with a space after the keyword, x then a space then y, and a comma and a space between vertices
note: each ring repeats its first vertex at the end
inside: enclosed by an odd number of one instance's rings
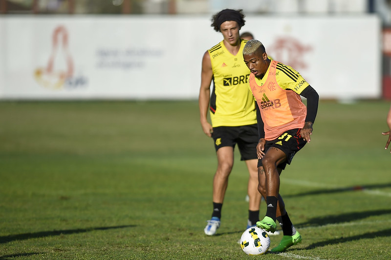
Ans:
POLYGON ((240 247, 247 255, 262 255, 269 246, 269 236, 259 227, 248 228, 240 237, 240 247))

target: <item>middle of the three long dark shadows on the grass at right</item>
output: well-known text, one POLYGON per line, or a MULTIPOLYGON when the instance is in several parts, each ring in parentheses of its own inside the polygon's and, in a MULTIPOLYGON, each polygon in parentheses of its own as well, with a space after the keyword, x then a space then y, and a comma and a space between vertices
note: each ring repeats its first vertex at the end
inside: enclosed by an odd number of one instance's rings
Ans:
POLYGON ((342 223, 342 222, 351 222, 355 220, 366 219, 370 216, 379 216, 390 214, 391 209, 378 209, 372 211, 357 211, 350 212, 345 214, 331 215, 331 216, 322 216, 308 220, 307 222, 295 224, 297 227, 313 226, 313 225, 326 225, 330 223, 342 223))

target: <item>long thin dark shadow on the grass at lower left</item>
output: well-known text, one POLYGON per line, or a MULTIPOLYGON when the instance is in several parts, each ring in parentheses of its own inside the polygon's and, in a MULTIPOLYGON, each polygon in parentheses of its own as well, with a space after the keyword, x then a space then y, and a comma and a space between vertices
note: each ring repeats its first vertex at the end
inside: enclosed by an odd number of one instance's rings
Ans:
POLYGON ((86 233, 86 232, 90 232, 90 231, 94 231, 94 230, 108 230, 108 229, 115 229, 115 228, 135 227, 135 226, 136 225, 123 225, 123 226, 112 226, 112 227, 91 227, 91 228, 81 228, 81 229, 53 230, 53 231, 42 231, 42 232, 35 232, 35 233, 8 235, 8 236, 0 237, 0 244, 11 242, 11 241, 16 241, 16 240, 26 240, 26 239, 49 237, 49 236, 78 234, 78 233, 86 233))

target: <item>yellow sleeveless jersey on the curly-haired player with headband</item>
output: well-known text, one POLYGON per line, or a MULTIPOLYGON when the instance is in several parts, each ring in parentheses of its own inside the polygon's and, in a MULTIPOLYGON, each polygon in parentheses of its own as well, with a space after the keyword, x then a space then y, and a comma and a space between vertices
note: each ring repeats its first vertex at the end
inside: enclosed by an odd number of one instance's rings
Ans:
POLYGON ((213 70, 209 107, 213 127, 257 123, 255 102, 247 83, 250 71, 242 56, 246 42, 241 40, 237 55, 231 54, 223 41, 208 50, 213 70))

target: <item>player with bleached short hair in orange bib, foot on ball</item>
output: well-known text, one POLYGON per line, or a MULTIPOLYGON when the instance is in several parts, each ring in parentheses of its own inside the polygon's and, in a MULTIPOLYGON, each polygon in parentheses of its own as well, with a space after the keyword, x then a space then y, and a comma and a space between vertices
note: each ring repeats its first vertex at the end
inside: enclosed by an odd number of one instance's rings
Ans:
POLYGON ((266 216, 257 226, 274 232, 276 220, 283 237, 272 252, 301 242, 280 196, 280 174, 293 156, 310 142, 318 110, 318 93, 292 67, 267 57, 259 40, 247 41, 243 60, 250 69, 249 88, 257 101, 259 131, 258 189, 266 200, 266 216), (300 96, 307 99, 304 105, 300 96))

